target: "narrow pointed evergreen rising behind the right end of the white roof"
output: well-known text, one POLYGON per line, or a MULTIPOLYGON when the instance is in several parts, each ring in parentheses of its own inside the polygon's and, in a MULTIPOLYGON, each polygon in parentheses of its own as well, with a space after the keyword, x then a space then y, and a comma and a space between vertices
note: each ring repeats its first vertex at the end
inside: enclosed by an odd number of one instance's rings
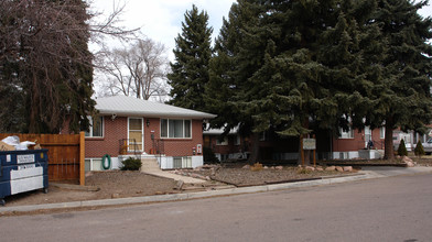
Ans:
POLYGON ((175 38, 175 62, 171 63, 172 73, 168 75, 172 86, 171 105, 206 111, 204 101, 205 86, 208 82, 208 65, 212 57, 208 14, 193 6, 186 11, 182 22, 182 34, 175 38))

